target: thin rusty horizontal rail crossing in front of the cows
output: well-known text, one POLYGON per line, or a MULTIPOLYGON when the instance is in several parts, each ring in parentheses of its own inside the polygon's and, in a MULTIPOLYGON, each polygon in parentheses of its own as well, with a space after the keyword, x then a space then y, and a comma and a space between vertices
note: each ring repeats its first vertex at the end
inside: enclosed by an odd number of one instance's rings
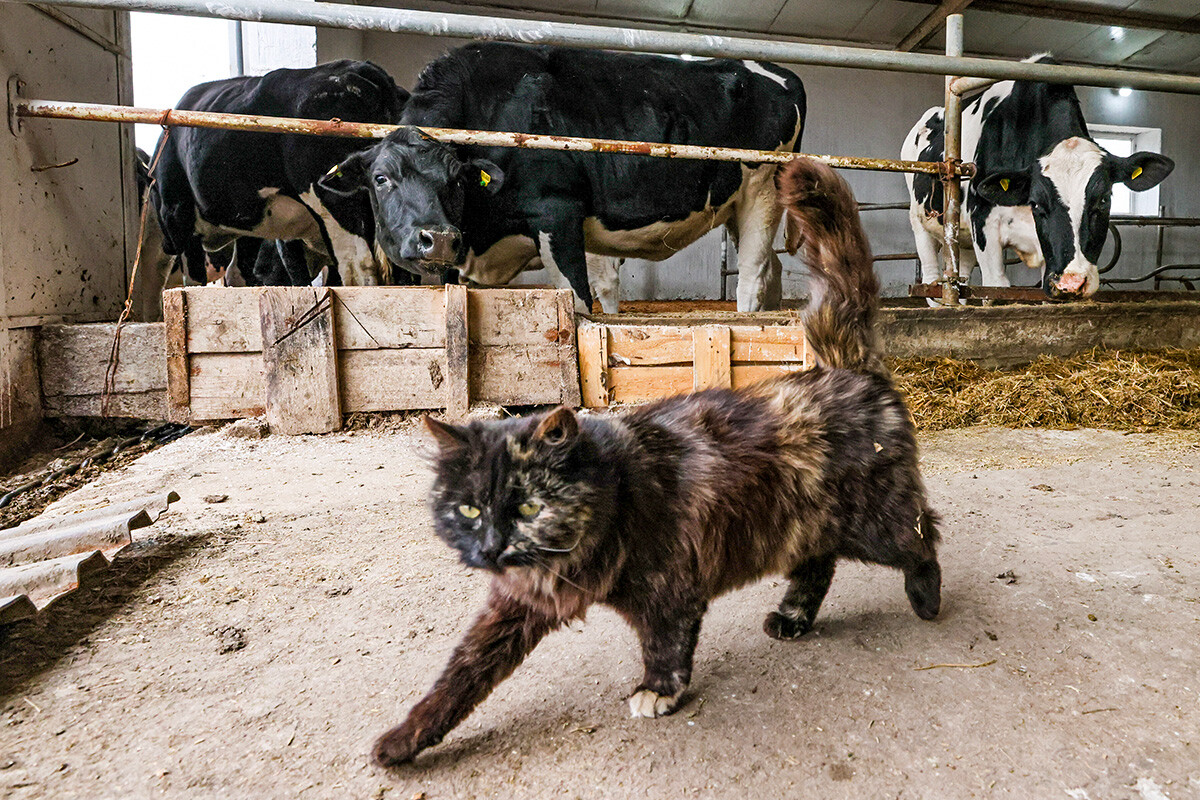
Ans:
MULTIPOLYGON (((401 126, 374 122, 344 122, 342 120, 301 120, 283 116, 259 116, 256 114, 218 114, 215 112, 188 112, 162 108, 134 108, 131 106, 107 106, 103 103, 71 103, 50 100, 26 100, 16 104, 18 118, 86 120, 101 122, 140 122, 149 125, 226 128, 230 131, 258 131, 277 133, 302 133, 312 136, 353 137, 378 139, 401 126)), ((494 148, 529 148, 534 150, 565 150, 571 152, 620 152, 660 158, 703 158, 708 161, 738 161, 750 163, 786 163, 797 156, 838 167, 840 169, 872 169, 895 173, 929 173, 940 175, 946 167, 941 162, 893 161, 890 158, 863 158, 857 156, 821 156, 780 150, 748 150, 743 148, 709 148, 689 144, 661 144, 654 142, 626 142, 622 139, 587 139, 582 137, 540 136, 532 133, 506 133, 496 131, 458 131, 454 128, 419 128, 430 138, 448 144, 472 144, 494 148)), ((958 174, 972 175, 971 164, 958 167, 958 174)))

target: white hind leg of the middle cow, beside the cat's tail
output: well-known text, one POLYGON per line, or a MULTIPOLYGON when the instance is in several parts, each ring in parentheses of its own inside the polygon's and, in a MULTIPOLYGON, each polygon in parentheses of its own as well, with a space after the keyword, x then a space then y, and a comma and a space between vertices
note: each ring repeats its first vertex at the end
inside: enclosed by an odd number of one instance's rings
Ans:
POLYGON ((770 311, 782 300, 782 265, 775 231, 782 207, 775 198, 775 167, 750 173, 734 209, 738 228, 738 311, 770 311))

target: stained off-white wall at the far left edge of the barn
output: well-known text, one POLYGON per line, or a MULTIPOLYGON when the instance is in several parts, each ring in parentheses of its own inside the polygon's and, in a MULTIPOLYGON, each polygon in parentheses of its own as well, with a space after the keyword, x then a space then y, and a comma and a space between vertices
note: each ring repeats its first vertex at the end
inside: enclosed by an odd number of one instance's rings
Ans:
MULTIPOLYGON (((0 74, 26 97, 131 102, 128 46, 125 13, 0 4, 0 74)), ((0 140, 2 461, 41 416, 29 327, 115 319, 137 198, 128 126, 26 120, 0 140)))

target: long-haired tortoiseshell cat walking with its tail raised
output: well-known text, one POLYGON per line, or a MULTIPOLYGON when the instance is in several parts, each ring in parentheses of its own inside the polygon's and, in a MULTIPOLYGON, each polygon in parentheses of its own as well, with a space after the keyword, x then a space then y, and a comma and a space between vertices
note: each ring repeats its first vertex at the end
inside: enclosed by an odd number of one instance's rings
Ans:
POLYGON ((708 601, 764 575, 791 581, 763 624, 778 639, 812 627, 839 558, 902 570, 913 609, 936 616, 935 516, 880 354, 878 283, 854 199, 806 160, 778 180, 788 248, 804 247, 815 278, 804 321, 816 368, 620 416, 428 421, 440 446, 437 533, 493 573, 492 590, 430 693, 379 739, 380 764, 442 741, 593 603, 641 639, 646 673, 629 698, 641 717, 678 705, 708 601))

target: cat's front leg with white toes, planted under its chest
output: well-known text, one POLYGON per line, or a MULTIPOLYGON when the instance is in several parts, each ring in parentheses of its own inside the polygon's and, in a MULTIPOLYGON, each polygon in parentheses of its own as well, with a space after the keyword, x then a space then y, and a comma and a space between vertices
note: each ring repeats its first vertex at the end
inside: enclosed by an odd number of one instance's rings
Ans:
POLYGON ((642 642, 646 673, 629 697, 632 717, 660 717, 679 706, 691 682, 691 662, 700 638, 700 622, 708 603, 648 604, 630 619, 642 642))

